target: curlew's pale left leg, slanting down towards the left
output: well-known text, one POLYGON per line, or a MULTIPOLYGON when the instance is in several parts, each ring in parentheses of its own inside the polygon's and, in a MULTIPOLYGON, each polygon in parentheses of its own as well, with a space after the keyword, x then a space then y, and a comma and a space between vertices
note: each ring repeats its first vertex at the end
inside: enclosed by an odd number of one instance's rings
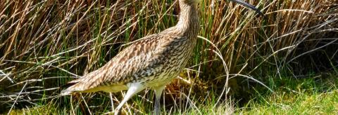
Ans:
POLYGON ((132 83, 130 84, 130 87, 127 91, 127 94, 125 95, 125 97, 123 98, 123 100, 120 102, 120 104, 118 104, 118 107, 116 107, 114 114, 118 115, 120 109, 123 107, 123 104, 125 104, 125 102, 127 102, 127 100, 130 99, 130 97, 132 97, 132 95, 135 95, 136 93, 139 93, 139 91, 143 90, 144 86, 139 84, 139 83, 132 83))

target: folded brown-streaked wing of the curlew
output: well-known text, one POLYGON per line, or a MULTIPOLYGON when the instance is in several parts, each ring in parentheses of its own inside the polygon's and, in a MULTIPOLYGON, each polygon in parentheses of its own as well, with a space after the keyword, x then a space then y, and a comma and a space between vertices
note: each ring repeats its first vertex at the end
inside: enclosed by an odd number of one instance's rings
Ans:
POLYGON ((100 69, 70 81, 69 91, 83 91, 97 86, 113 84, 125 85, 146 76, 159 73, 169 54, 166 45, 170 45, 173 36, 154 34, 132 43, 100 69), (168 54, 168 55, 166 55, 168 54))

